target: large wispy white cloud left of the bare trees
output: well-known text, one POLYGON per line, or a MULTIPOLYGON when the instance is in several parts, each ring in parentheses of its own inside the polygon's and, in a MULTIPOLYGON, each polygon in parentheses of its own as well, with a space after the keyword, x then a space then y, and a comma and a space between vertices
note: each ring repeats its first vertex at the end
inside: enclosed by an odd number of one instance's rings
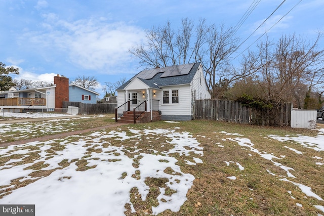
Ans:
POLYGON ((63 52, 68 61, 83 68, 104 73, 115 73, 118 68, 132 62, 128 50, 140 44, 144 30, 124 22, 107 23, 105 19, 67 22, 55 14, 44 15, 43 32, 24 36, 37 44, 38 49, 63 52))

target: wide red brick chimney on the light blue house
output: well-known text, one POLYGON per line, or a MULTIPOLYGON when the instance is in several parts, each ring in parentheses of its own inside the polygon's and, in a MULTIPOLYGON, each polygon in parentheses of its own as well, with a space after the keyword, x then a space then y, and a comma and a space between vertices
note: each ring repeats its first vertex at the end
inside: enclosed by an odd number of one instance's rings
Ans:
POLYGON ((55 108, 62 108, 63 101, 69 101, 69 79, 57 74, 54 76, 55 88, 55 108))

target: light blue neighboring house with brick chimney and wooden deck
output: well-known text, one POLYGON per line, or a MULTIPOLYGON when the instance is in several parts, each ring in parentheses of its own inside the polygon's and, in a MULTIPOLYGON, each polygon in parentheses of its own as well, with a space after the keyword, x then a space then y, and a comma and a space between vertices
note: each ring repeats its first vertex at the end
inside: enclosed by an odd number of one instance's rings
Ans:
POLYGON ((54 85, 50 87, 1 92, 0 109, 19 111, 46 108, 47 111, 54 111, 63 107, 63 101, 96 104, 98 95, 76 84, 69 84, 68 78, 57 74, 54 85))

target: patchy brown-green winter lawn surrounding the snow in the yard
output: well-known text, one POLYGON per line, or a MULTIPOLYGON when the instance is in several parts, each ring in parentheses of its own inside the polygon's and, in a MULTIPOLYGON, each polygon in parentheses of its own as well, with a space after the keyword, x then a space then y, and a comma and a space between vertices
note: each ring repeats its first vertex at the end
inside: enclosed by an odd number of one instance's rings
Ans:
MULTIPOLYGON (((52 131, 62 133, 65 130, 79 130, 89 127, 101 126, 113 123, 112 116, 98 118, 75 118, 67 121, 52 122, 52 131), (54 124, 56 126, 54 126, 54 124), (59 124, 59 125, 57 125, 59 124), (56 129, 55 129, 56 128, 56 129), (60 129, 58 129, 60 128, 60 129), (61 132, 59 132, 61 131, 61 132)), ((46 136, 42 133, 44 127, 48 127, 49 122, 33 122, 33 133, 22 132, 23 128, 30 128, 30 124, 13 124, 8 133, 3 133, 0 142, 9 142, 19 137, 27 139, 33 136, 46 136), (43 126, 40 126, 42 124, 43 126), (13 128, 20 128, 15 130, 13 128), (24 136, 22 136, 24 134, 24 136), (7 136, 10 135, 10 136, 7 136), (26 137, 27 136, 27 137, 26 137)), ((2 126, 1 128, 5 128, 2 126)), ((217 121, 184 121, 184 122, 151 122, 145 124, 126 124, 118 127, 119 132, 125 132, 132 136, 132 131, 143 131, 144 129, 175 129, 176 132, 188 132, 203 147, 203 156, 197 157, 192 152, 190 155, 172 153, 172 157, 178 161, 184 174, 194 176, 192 187, 188 190, 187 200, 177 212, 166 210, 158 215, 319 215, 324 214, 320 206, 324 206, 324 151, 314 149, 312 145, 302 145, 292 139, 280 141, 278 137, 299 138, 306 136, 306 140, 311 138, 324 138, 318 135, 317 131, 308 129, 294 129, 290 127, 262 127, 252 125, 240 125, 217 121), (275 135, 276 137, 270 136, 275 135), (278 139, 276 139, 278 138, 278 139), (197 157, 203 163, 196 163, 192 158, 197 157), (305 192, 305 187, 311 188, 311 193, 305 192), (313 193, 313 194, 312 194, 313 193), (315 196, 315 195, 317 196, 315 196), (319 197, 319 198, 318 198, 319 197), (317 206, 317 208, 315 207, 317 206)), ((109 133, 117 128, 106 129, 109 133)), ((48 134, 51 132, 48 132, 48 134)), ((84 137, 89 134, 83 135, 84 137)), ((47 150, 48 158, 55 157, 56 151, 64 148, 65 145, 77 142, 80 137, 70 137, 65 140, 53 142, 51 149, 47 150)), ((298 140, 298 139, 297 139, 298 140)), ((169 148, 168 137, 148 134, 140 141, 136 142, 140 153, 155 154, 165 156, 166 149, 169 148), (165 143, 165 145, 161 145, 165 143)), ((91 140, 87 141, 89 148, 87 154, 101 153, 99 145, 92 145, 91 140)), ((105 144, 109 146, 123 146, 123 152, 126 156, 134 158, 133 166, 140 164, 141 156, 134 157, 127 149, 132 149, 135 141, 118 140, 106 138, 105 144)), ((324 140, 323 140, 324 142, 324 140)), ((190 147, 186 147, 190 150, 190 147)), ((0 148, 1 150, 2 148, 0 148)), ((0 151, 1 152, 1 151, 0 151)), ((0 153, 1 154, 1 153, 0 153)), ((116 153, 117 154, 117 153, 116 153)), ((118 155, 116 155, 118 156, 118 155)), ((28 157, 12 154, 10 157, 0 155, 0 171, 10 159, 23 158, 18 163, 29 163, 38 159, 38 154, 30 154, 28 157)), ((34 170, 30 174, 33 178, 28 181, 20 182, 20 179, 11 181, 12 188, 9 185, 0 185, 0 203, 1 199, 10 196, 10 193, 24 187, 32 182, 38 181, 37 177, 46 177, 57 169, 68 167, 72 163, 77 166, 76 170, 91 170, 96 166, 88 164, 85 155, 83 158, 74 160, 62 160, 61 167, 42 171, 46 167, 46 161, 34 163, 28 169, 34 170), (2 189, 6 188, 6 191, 2 189)), ((162 161, 163 162, 163 161, 162 161)), ((166 173, 174 174, 174 170, 168 168, 166 173)), ((179 174, 174 174, 179 175, 179 174)), ((126 178, 121 176, 121 179, 126 178)), ((133 178, 139 178, 140 175, 134 174, 133 178)), ((69 177, 66 177, 69 178, 69 177)), ((176 191, 166 187, 168 180, 164 178, 146 178, 145 184, 149 186, 149 193, 145 201, 139 199, 139 191, 133 188, 130 191, 130 200, 133 206, 125 204, 126 215, 147 215, 152 213, 152 206, 157 206, 157 196, 159 189, 166 188, 166 194, 171 196, 176 191), (132 207, 136 210, 132 212, 132 207)))

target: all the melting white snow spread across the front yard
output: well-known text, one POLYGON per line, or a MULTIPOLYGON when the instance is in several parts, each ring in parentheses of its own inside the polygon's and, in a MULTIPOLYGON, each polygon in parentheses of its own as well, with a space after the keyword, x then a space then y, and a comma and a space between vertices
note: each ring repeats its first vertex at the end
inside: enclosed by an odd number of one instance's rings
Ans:
MULTIPOLYGON (((43 122, 44 123, 44 122, 43 122)), ((136 130, 128 128, 126 131, 116 129, 115 131, 98 131, 88 136, 73 136, 63 140, 50 140, 48 142, 32 142, 25 145, 9 146, 0 148, 0 157, 20 155, 10 159, 0 167, 0 199, 2 204, 35 204, 36 215, 124 215, 125 205, 129 205, 133 212, 136 211, 130 198, 132 188, 138 189, 139 197, 145 200, 150 186, 146 185, 146 178, 164 178, 168 182, 165 187, 159 189, 157 197, 158 205, 151 208, 154 215, 170 209, 178 211, 187 200, 186 194, 192 187, 194 176, 185 173, 176 163, 178 160, 172 155, 174 153, 185 155, 185 163, 196 165, 202 163, 204 148, 188 132, 181 131, 177 122, 170 129, 146 128, 136 130), (139 144, 148 140, 149 150, 143 151, 139 144), (59 142, 59 144, 57 144, 59 142), (127 145, 131 142, 133 145, 127 145), (115 145, 114 143, 121 143, 115 145), (124 143, 124 144, 123 144, 124 143), (153 145, 154 143, 154 145, 153 145), (59 148, 53 148, 58 145, 59 148), (156 149, 163 148, 163 151, 156 149), (89 153, 89 149, 93 149, 89 153), (52 152, 49 154, 49 152, 52 152), (31 154, 36 154, 37 159, 27 163, 19 163, 31 154), (162 156, 163 155, 163 156, 162 156), (86 159, 87 166, 92 167, 85 171, 78 170, 77 160, 86 159), (63 160, 68 163, 63 166, 63 160), (74 161, 74 162, 72 162, 74 161), (35 170, 31 167, 44 163, 38 167, 39 171, 50 171, 48 176, 32 177, 35 170), (135 164, 135 165, 134 165, 135 164), (170 167, 174 172, 166 173, 164 170, 170 167), (6 190, 15 187, 11 180, 18 179, 19 182, 37 180, 25 187, 21 187, 7 194, 6 190), (175 191, 171 196, 166 194, 167 189, 175 191)), ((10 125, 0 124, 0 131, 10 125)), ((53 128, 55 130, 55 128, 53 128)), ((62 128, 57 128, 62 129, 62 128)), ((247 155, 258 156, 273 163, 274 166, 286 171, 287 176, 280 176, 267 170, 270 176, 275 176, 297 186, 308 197, 313 197, 324 203, 322 197, 312 192, 311 187, 300 184, 293 175, 294 169, 277 161, 285 158, 285 155, 274 155, 259 151, 255 144, 244 135, 215 132, 228 136, 224 139, 220 148, 226 148, 226 141, 236 142, 240 148, 247 151, 247 155), (275 160, 273 160, 275 159, 275 160), (288 178, 290 178, 288 180, 288 178)), ((313 158, 316 165, 324 165, 323 158, 316 152, 324 151, 324 129, 320 129, 317 137, 307 136, 285 136, 279 137, 269 135, 268 139, 278 141, 292 141, 305 148, 314 150, 313 158)), ((296 154, 302 152, 285 146, 296 154)), ((234 165, 240 173, 244 172, 244 164, 235 161, 224 161, 227 166, 234 165)), ((238 176, 229 176, 228 179, 235 181, 238 176)), ((292 194, 291 191, 288 193, 292 194)), ((292 196, 292 199, 294 197, 292 196)), ((311 204, 311 203, 310 203, 311 204)), ((296 201, 296 205, 302 204, 296 201)), ((324 212, 324 205, 313 205, 324 212)), ((318 214, 318 216, 321 214, 318 214)))

